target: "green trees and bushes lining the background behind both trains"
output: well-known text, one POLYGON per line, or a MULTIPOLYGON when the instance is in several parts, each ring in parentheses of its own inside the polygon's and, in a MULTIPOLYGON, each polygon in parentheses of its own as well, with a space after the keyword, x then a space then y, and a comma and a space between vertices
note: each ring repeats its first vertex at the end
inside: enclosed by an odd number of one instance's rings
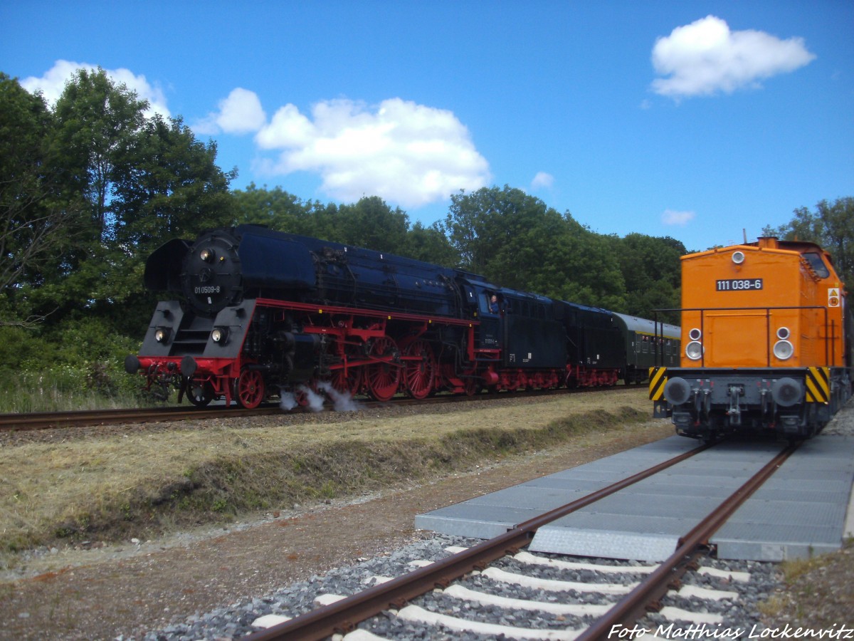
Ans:
MULTIPOLYGON (((134 394, 138 379, 120 363, 137 350, 157 298, 143 288, 145 260, 167 240, 216 226, 266 225, 645 317, 679 306, 685 248, 673 238, 603 236, 507 185, 460 191, 432 226, 412 224, 376 196, 336 204, 254 184, 231 192, 237 170, 217 166, 216 144, 148 107, 100 68, 79 70, 52 110, 0 73, 6 399, 29 398, 30 388, 50 388, 53 397, 134 394)), ((854 279, 851 197, 796 209, 793 221, 770 231, 822 244, 854 279)))

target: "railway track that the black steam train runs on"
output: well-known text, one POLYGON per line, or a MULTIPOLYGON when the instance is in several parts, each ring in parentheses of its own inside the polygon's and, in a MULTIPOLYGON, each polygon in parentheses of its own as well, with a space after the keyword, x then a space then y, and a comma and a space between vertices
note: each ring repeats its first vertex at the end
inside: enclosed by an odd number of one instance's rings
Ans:
MULTIPOLYGON (((629 385, 634 387, 635 385, 629 385)), ((582 391, 615 391, 626 389, 626 386, 594 388, 591 390, 536 390, 526 392, 511 392, 512 394, 524 394, 525 397, 549 396, 560 393, 578 393, 582 391)), ((473 397, 440 395, 425 398, 424 400, 413 400, 406 397, 398 397, 389 401, 397 404, 429 405, 435 403, 463 403, 471 401, 487 401, 494 398, 506 397, 505 394, 477 394, 473 397)), ((381 406, 384 403, 374 401, 358 400, 358 406, 362 409, 381 406)), ((216 406, 208 408, 195 407, 161 407, 142 409, 92 409, 68 412, 34 412, 31 414, 0 414, 0 432, 31 431, 44 429, 57 429, 65 427, 102 426, 117 425, 125 423, 155 423, 180 420, 204 420, 211 418, 223 418, 229 416, 268 416, 283 413, 277 403, 265 403, 256 409, 243 409, 236 405, 229 408, 216 406)), ((313 411, 307 407, 296 407, 287 410, 300 413, 313 411)))

